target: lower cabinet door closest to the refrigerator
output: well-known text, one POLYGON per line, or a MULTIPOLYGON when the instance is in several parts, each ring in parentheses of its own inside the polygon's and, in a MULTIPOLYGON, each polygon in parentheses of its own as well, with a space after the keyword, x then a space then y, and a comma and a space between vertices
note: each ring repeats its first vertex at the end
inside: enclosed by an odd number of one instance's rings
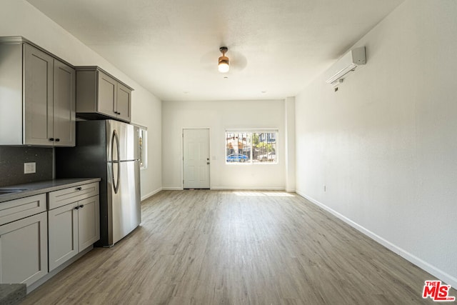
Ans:
POLYGON ((100 239, 99 196, 81 200, 78 204, 79 251, 83 251, 100 239))

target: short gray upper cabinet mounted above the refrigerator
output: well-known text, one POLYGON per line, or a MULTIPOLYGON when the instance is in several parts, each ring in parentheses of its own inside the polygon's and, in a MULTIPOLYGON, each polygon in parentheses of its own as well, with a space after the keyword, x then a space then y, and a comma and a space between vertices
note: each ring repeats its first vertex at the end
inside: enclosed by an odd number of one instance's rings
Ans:
POLYGON ((76 115, 131 121, 131 89, 97 66, 76 67, 76 115))

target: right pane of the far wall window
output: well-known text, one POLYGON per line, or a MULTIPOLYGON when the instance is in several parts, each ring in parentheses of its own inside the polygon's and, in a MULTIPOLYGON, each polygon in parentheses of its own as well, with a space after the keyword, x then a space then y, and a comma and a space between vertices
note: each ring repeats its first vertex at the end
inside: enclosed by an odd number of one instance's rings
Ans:
POLYGON ((276 132, 252 134, 253 161, 276 163, 276 132))

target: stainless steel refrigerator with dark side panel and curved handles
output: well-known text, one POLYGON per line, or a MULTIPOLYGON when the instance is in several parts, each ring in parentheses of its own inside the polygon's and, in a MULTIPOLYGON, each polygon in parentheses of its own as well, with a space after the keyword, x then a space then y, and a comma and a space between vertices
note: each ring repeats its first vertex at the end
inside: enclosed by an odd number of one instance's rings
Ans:
POLYGON ((99 177, 100 241, 112 246, 141 222, 139 128, 121 121, 76 122, 76 147, 56 148, 56 178, 99 177))

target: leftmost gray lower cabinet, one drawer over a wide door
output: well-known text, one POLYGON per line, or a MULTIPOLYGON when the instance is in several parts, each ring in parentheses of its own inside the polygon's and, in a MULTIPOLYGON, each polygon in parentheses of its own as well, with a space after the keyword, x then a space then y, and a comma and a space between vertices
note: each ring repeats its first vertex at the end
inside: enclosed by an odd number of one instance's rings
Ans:
POLYGON ((0 283, 29 286, 48 274, 46 194, 2 203, 0 224, 0 283))

